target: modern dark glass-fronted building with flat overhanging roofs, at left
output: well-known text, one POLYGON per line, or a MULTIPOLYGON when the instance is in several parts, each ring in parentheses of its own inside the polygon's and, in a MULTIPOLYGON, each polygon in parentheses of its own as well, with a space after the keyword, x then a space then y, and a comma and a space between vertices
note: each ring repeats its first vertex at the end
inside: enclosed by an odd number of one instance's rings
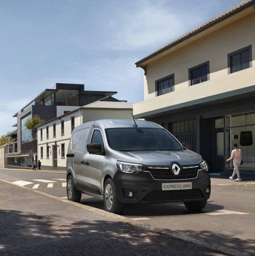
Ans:
POLYGON ((45 121, 62 116, 80 106, 90 104, 99 99, 116 94, 115 91, 85 91, 84 84, 55 84, 45 89, 21 110, 13 115, 17 122, 13 127, 17 130, 7 134, 8 152, 7 168, 31 168, 37 161, 37 129, 29 130, 24 126, 25 120, 33 115, 40 115, 45 121), (15 139, 15 141, 14 141, 15 139))

